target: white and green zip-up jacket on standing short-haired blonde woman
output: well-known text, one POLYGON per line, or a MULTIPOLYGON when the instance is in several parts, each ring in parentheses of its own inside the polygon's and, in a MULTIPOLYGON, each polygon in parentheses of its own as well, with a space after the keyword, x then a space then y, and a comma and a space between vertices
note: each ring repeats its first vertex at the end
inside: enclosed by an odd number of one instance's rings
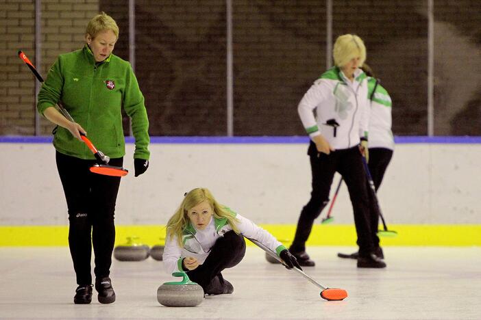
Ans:
POLYGON ((334 149, 351 148, 367 137, 369 109, 366 74, 358 68, 351 82, 337 66, 314 81, 297 107, 308 135, 322 135, 334 149))

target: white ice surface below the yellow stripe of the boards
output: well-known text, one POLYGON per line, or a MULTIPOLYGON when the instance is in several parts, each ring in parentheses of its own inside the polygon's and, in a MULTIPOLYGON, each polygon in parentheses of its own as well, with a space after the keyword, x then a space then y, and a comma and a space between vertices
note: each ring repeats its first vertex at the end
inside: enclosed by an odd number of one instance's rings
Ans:
POLYGON ((223 271, 232 295, 208 296, 197 307, 158 304, 160 284, 173 280, 162 262, 114 261, 116 302, 73 304, 76 288, 66 247, 0 248, 0 319, 481 319, 481 248, 386 247, 386 269, 358 269, 336 256, 347 247, 313 247, 316 267, 304 271, 347 290, 342 302, 294 271, 272 265, 248 246, 244 260, 223 271))

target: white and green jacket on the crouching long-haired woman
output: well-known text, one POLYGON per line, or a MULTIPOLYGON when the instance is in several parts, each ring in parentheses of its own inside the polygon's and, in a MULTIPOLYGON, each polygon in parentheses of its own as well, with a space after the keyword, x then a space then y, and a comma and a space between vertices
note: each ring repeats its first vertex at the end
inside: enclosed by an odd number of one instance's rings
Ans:
MULTIPOLYGON (((243 217, 234 211, 231 212, 239 220, 237 227, 243 236, 259 241, 273 252, 276 252, 277 256, 279 256, 282 250, 286 249, 286 247, 277 241, 277 239, 275 239, 275 237, 269 232, 260 228, 260 226, 257 226, 246 217, 243 217)), ((167 237, 165 240, 164 254, 162 256, 164 270, 168 274, 183 271, 182 259, 186 256, 196 258, 197 261, 199 261, 199 264, 204 263, 210 254, 210 249, 214 246, 215 241, 219 239, 219 237, 223 237, 224 233, 230 230, 232 230, 232 227, 227 223, 227 219, 225 218, 216 219, 215 217, 212 217, 210 223, 204 230, 197 230, 195 226, 188 222, 182 234, 184 248, 179 246, 177 237, 175 236, 172 239, 167 237)))

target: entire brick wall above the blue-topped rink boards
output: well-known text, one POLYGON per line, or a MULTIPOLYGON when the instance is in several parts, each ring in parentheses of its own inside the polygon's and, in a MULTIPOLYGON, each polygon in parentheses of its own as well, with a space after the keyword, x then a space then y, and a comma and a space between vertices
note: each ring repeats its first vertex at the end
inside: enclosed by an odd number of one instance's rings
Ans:
MULTIPOLYGON (((234 135, 304 135, 297 103, 325 70, 324 0, 235 0, 234 135)), ((393 131, 427 133, 426 1, 336 0, 333 37, 358 34, 393 98, 393 131)), ((225 135, 224 0, 136 0, 136 75, 151 135, 225 135)), ((1 1, 0 135, 34 132, 34 1, 1 1)), ((42 74, 82 47, 88 19, 119 24, 128 59, 127 1, 42 0, 42 74)), ((435 134, 481 135, 481 3, 435 0, 435 134)), ((126 120, 126 118, 125 118, 126 120)), ((128 131, 127 121, 125 132, 128 131)), ((42 134, 51 124, 42 120, 42 134)))

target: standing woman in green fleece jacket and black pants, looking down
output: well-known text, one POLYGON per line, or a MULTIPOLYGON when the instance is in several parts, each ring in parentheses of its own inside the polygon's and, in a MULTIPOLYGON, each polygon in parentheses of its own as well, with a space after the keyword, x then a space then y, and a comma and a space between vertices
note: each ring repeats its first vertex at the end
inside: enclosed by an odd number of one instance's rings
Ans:
POLYGON ((99 302, 115 301, 109 276, 115 241, 114 210, 120 185, 119 177, 89 171, 96 163, 95 157, 79 133, 88 135, 110 157, 109 165, 122 166, 123 107, 132 120, 135 137, 135 176, 149 167, 149 121, 144 97, 130 64, 112 54, 118 38, 119 27, 114 19, 104 12, 97 14, 87 25, 84 48, 60 55, 38 93, 38 111, 57 124, 53 146, 69 209, 69 247, 78 284, 75 304, 89 304, 92 299, 92 247, 99 302), (75 122, 56 109, 60 102, 75 122))

